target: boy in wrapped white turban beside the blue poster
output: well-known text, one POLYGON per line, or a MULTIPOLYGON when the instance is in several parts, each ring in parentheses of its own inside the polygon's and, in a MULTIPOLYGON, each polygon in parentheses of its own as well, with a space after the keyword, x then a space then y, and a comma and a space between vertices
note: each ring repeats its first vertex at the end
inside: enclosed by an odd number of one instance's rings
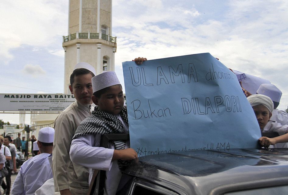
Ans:
MULTIPOLYGON (((281 124, 270 120, 274 106, 272 100, 268 96, 255 94, 249 96, 247 99, 254 110, 261 132, 276 132, 280 136, 288 132, 288 125, 282 126, 281 124)), ((262 142, 263 139, 266 140, 267 137, 261 137, 259 143, 264 147, 268 147, 270 144, 268 145, 267 143, 262 142)), ((287 143, 277 143, 278 144, 272 144, 274 145, 274 148, 288 147, 287 143)))

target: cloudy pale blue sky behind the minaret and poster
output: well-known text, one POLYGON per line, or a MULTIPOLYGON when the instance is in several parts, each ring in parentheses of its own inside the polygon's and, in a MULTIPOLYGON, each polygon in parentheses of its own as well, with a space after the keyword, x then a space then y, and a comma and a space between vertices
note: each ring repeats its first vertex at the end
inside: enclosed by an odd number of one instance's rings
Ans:
MULTIPOLYGON (((67 0, 0 2, 0 93, 62 93, 67 0)), ((228 68, 269 80, 288 106, 288 2, 114 0, 115 72, 121 62, 209 52, 228 68)), ((1 114, 19 123, 19 114, 1 114)), ((30 115, 26 114, 26 124, 30 115)))

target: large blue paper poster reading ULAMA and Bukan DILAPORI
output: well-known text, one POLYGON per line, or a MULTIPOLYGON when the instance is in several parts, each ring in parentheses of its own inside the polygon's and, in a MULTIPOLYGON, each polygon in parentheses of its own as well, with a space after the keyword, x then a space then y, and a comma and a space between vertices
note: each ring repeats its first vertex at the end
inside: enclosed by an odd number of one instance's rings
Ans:
POLYGON ((138 156, 257 146, 260 128, 237 76, 209 53, 122 65, 138 156))

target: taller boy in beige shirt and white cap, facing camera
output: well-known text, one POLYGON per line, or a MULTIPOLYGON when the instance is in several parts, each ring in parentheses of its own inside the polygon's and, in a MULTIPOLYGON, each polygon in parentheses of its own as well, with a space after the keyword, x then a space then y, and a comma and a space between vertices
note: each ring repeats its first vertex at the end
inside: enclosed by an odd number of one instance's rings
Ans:
POLYGON ((75 65, 70 75, 69 89, 76 101, 68 106, 54 121, 55 136, 52 156, 52 170, 55 192, 67 194, 88 193, 88 168, 72 163, 69 156, 72 137, 86 117, 93 110, 92 77, 96 75, 93 66, 86 62, 75 65))

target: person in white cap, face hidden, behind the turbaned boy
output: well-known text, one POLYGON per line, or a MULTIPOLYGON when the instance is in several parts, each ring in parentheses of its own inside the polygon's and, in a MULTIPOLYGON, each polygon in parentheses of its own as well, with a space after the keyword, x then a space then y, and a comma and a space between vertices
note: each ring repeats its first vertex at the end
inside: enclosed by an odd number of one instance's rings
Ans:
POLYGON ((264 83, 260 85, 259 89, 257 90, 257 94, 262 94, 272 99, 274 109, 273 109, 272 117, 270 120, 276 121, 277 123, 280 123, 281 125, 288 125, 288 114, 283 110, 277 109, 280 103, 281 96, 282 96, 282 92, 280 91, 280 89, 278 89, 273 84, 264 83))

